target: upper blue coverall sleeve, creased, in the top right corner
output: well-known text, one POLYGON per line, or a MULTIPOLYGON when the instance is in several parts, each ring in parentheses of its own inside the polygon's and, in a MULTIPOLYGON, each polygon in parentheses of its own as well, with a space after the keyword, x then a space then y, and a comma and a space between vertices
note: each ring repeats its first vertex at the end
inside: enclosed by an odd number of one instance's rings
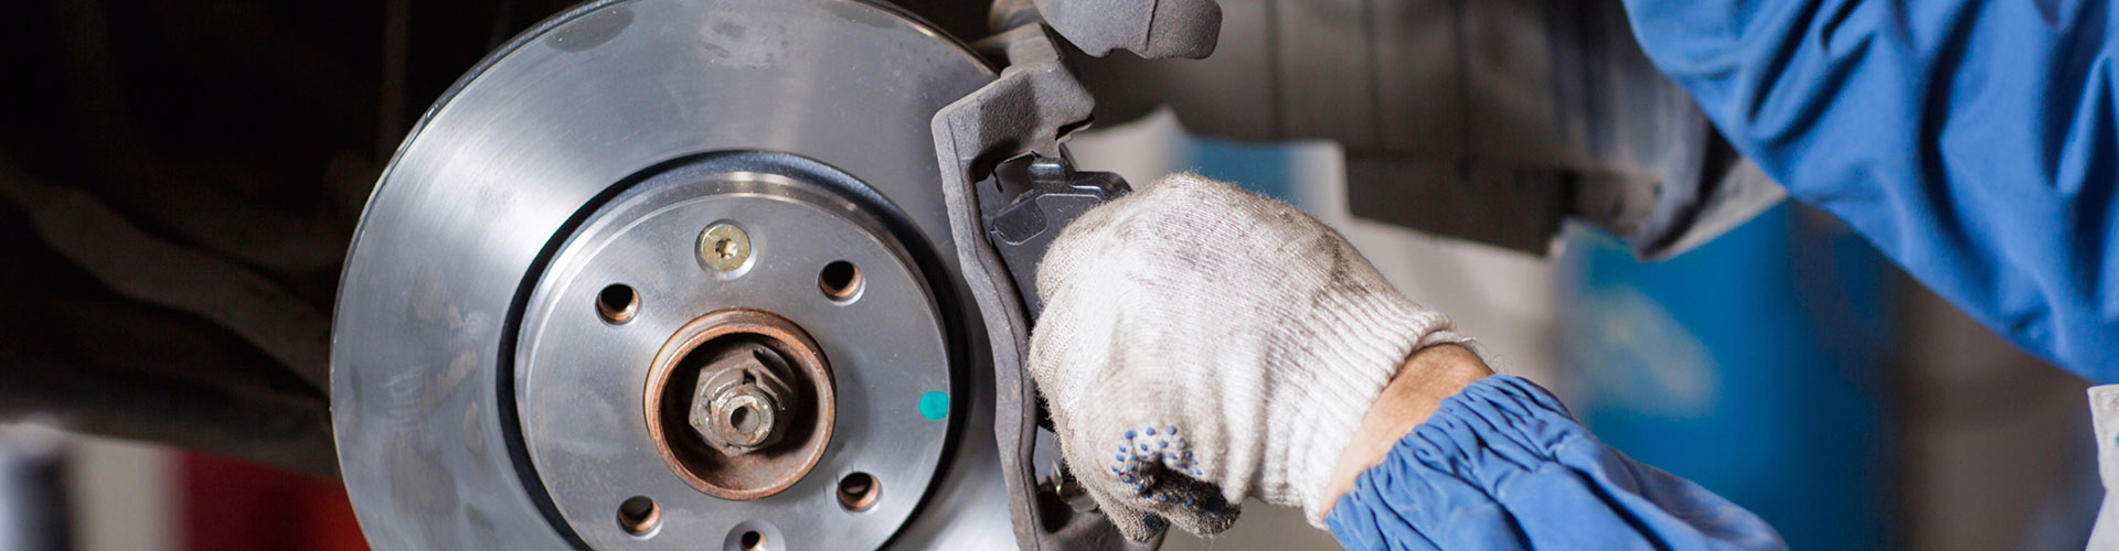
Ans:
POLYGON ((2119 381, 2100 0, 1625 0, 1729 142, 1973 318, 2119 381))

